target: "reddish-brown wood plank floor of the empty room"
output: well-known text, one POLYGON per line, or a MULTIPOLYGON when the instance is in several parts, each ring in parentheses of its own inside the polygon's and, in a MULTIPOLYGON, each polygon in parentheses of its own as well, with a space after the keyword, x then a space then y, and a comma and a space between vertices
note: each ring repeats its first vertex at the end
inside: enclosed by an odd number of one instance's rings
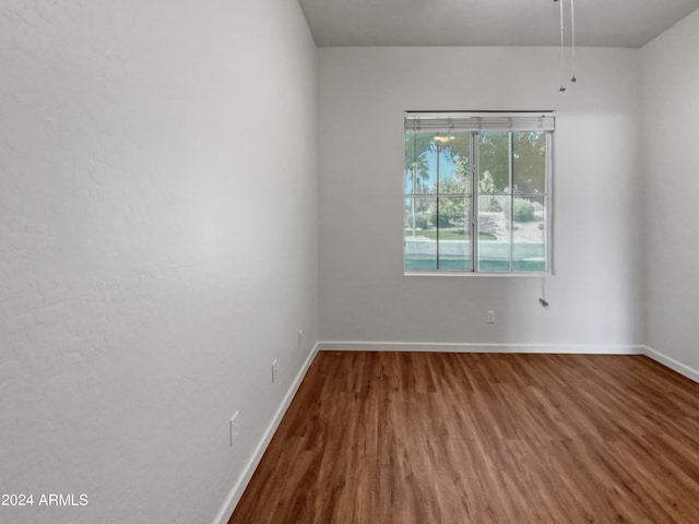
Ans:
POLYGON ((699 523, 699 384, 643 356, 321 352, 229 524, 699 523))

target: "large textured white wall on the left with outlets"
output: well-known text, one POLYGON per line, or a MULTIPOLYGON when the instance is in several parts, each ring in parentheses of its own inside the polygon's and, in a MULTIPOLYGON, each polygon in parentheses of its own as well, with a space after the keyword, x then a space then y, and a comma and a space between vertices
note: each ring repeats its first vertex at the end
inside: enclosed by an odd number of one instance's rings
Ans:
POLYGON ((0 49, 0 521, 211 523, 317 340, 300 9, 4 0, 0 49))

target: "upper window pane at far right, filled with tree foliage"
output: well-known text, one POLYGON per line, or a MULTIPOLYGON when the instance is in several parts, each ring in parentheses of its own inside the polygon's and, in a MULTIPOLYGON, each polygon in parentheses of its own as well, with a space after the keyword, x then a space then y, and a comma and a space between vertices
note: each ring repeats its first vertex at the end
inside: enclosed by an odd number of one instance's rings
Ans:
POLYGON ((512 179, 516 193, 546 192, 546 133, 512 133, 512 179))

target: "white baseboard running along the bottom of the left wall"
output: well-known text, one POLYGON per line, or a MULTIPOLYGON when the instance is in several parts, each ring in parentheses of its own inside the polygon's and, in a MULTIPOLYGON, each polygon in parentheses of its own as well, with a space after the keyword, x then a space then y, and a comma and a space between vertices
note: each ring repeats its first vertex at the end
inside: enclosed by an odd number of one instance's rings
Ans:
POLYGON ((238 505, 238 502, 240 501, 240 497, 242 497, 242 492, 245 491, 245 488, 248 486, 250 478, 252 478, 252 474, 254 473, 254 469, 258 467, 258 464, 260 463, 260 461, 262 460, 262 455, 264 454, 268 445, 270 445, 270 441, 272 440, 272 437, 274 436, 276 428, 282 421, 282 418, 284 417, 286 409, 288 409, 288 406, 292 403, 294 395, 296 395, 296 392, 298 391, 298 386, 301 385, 301 381, 304 380, 304 377, 306 377, 306 372, 308 371, 308 368, 313 361, 316 354, 318 354, 318 343, 316 343, 310 354, 306 358, 306 361, 301 366, 301 369, 296 374, 296 378, 294 379, 294 382, 292 383, 291 388, 286 392, 286 395, 284 396, 282 404, 280 405, 279 409, 274 414, 272 421, 268 426, 266 431, 264 431, 262 439, 260 439, 260 443, 256 448, 254 453, 248 461, 248 464, 246 465, 245 469, 242 471, 242 473, 234 484, 233 488, 230 489, 230 492, 228 497, 226 497, 226 501, 224 502, 223 507, 221 508, 221 511, 214 519, 213 524, 226 524, 230 520, 230 515, 233 515, 233 511, 236 509, 236 505, 238 505))

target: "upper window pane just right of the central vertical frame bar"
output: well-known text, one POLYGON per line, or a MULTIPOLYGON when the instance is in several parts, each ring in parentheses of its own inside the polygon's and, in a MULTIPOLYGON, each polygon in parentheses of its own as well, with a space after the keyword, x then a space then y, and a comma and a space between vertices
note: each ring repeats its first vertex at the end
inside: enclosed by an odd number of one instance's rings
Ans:
POLYGON ((478 135, 478 191, 505 193, 510 186, 509 133, 481 133, 478 135))

